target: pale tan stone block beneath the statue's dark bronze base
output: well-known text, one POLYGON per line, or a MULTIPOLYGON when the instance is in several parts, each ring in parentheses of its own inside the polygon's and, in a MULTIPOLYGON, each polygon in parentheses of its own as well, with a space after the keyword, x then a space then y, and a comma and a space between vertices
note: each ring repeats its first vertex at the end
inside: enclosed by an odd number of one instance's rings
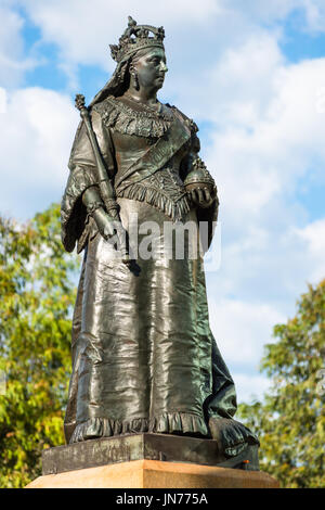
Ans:
POLYGON ((277 488, 261 471, 133 460, 39 476, 26 488, 277 488))

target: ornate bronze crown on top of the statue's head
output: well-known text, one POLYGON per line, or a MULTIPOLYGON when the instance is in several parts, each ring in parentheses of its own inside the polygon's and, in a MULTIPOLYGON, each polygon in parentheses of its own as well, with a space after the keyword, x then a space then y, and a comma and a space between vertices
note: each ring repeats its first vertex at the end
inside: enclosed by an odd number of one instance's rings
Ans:
POLYGON ((129 16, 128 28, 119 38, 119 43, 109 44, 112 58, 119 63, 143 48, 160 47, 164 49, 164 38, 162 26, 156 28, 151 25, 136 25, 136 22, 129 16))

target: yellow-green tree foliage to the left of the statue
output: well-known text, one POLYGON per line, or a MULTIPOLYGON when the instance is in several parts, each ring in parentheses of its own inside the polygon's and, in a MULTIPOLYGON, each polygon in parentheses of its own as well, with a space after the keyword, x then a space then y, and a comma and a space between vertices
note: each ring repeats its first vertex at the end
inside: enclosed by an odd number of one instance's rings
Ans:
POLYGON ((0 217, 1 487, 25 486, 41 473, 42 449, 64 444, 79 260, 60 230, 58 205, 24 226, 0 217))

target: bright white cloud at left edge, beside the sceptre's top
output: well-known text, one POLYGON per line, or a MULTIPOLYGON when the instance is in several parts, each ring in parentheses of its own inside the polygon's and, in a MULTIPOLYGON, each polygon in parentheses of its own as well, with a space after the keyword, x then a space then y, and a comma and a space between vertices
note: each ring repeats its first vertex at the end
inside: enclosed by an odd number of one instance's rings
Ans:
POLYGON ((24 218, 61 200, 78 114, 67 97, 52 90, 8 95, 0 114, 1 212, 24 218))

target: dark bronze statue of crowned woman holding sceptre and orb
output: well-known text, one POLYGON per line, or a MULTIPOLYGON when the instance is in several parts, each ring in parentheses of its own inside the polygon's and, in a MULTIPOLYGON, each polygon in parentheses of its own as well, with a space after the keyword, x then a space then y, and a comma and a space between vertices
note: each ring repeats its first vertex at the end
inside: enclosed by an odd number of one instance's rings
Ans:
MULTIPOLYGON (((170 258, 164 256, 166 225, 205 221, 209 245, 219 205, 198 155, 197 126, 157 99, 168 71, 164 37, 162 27, 130 17, 112 47, 112 78, 88 109, 77 98, 82 120, 62 201, 62 239, 68 252, 77 244, 84 257, 73 320, 66 442, 186 435, 207 442, 207 458, 213 439, 236 464, 258 439, 233 419, 236 393, 209 326, 203 256, 185 250, 179 258, 173 248, 170 258), (140 241, 145 222, 159 227, 158 257, 134 255, 131 241, 115 257, 114 228, 130 234, 134 216, 140 241)), ((198 244, 198 235, 191 243, 198 244)))

